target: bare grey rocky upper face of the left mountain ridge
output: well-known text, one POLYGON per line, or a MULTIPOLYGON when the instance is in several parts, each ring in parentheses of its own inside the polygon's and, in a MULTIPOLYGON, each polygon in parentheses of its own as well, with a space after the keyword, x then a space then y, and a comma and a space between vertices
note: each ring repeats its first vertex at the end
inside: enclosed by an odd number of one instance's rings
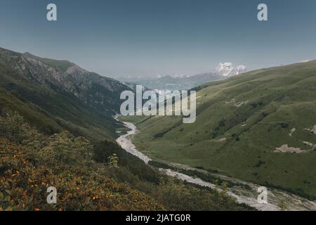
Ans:
POLYGON ((6 49, 0 49, 0 60, 32 82, 73 94, 86 105, 110 114, 118 112, 121 91, 129 89, 117 80, 88 72, 68 61, 39 58, 6 49))

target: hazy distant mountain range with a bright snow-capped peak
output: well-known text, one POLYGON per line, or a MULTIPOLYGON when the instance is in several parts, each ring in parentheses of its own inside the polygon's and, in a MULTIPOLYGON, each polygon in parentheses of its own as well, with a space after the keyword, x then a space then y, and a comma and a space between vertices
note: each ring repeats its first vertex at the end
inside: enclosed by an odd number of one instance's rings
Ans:
POLYGON ((186 90, 192 89, 195 86, 212 82, 220 79, 226 79, 235 75, 239 75, 246 72, 246 66, 237 65, 232 66, 232 63, 220 63, 215 71, 206 72, 198 75, 167 75, 154 78, 135 78, 135 77, 123 77, 121 81, 125 84, 142 84, 147 89, 168 89, 168 90, 186 90))

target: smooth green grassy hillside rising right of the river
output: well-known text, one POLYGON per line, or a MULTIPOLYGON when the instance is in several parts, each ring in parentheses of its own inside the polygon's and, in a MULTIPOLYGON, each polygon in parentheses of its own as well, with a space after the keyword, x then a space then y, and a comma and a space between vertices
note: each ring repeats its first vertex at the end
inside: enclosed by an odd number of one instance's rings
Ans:
POLYGON ((247 72, 196 90, 193 124, 181 117, 122 119, 137 123, 136 146, 156 160, 315 198, 316 134, 310 128, 316 124, 316 61, 247 72), (286 152, 275 152, 281 146, 286 152))

